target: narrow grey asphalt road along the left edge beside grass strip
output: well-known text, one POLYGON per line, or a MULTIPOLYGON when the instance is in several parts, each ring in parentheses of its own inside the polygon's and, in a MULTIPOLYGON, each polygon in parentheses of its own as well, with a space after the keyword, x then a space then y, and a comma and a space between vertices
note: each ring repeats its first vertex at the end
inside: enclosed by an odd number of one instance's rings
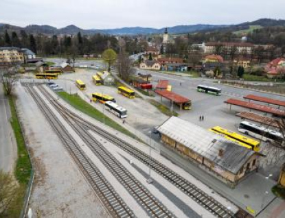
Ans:
POLYGON ((13 165, 12 132, 10 127, 10 109, 0 84, 0 169, 9 172, 13 165))

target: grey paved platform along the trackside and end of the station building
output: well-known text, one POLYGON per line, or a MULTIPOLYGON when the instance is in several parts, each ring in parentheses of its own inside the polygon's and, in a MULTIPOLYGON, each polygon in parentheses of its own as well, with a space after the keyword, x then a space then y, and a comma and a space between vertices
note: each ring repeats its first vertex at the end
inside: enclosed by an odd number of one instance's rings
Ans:
POLYGON ((197 167, 185 158, 182 158, 179 154, 172 152, 167 147, 161 147, 161 154, 175 162, 177 165, 183 167, 183 169, 188 171, 198 180, 201 180, 201 182, 204 182, 207 186, 253 216, 258 215, 275 199, 275 195, 271 192, 271 188, 276 182, 271 179, 266 179, 264 175, 261 175, 260 173, 249 175, 249 177, 240 182, 235 189, 231 189, 227 184, 214 178, 214 176, 209 175, 203 169, 197 167))

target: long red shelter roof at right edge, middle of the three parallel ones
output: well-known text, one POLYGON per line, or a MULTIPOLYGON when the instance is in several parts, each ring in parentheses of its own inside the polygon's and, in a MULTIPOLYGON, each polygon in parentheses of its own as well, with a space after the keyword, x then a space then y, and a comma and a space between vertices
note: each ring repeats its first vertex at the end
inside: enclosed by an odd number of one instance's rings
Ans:
POLYGON ((259 110, 262 112, 267 112, 267 113, 271 113, 271 114, 275 114, 277 116, 285 116, 285 110, 280 110, 277 108, 271 108, 269 106, 264 106, 264 105, 260 105, 260 104, 253 104, 251 102, 248 101, 242 101, 242 100, 238 100, 238 99, 227 99, 227 101, 224 101, 226 104, 233 104, 236 106, 241 106, 244 108, 249 108, 249 109, 253 109, 253 110, 259 110))

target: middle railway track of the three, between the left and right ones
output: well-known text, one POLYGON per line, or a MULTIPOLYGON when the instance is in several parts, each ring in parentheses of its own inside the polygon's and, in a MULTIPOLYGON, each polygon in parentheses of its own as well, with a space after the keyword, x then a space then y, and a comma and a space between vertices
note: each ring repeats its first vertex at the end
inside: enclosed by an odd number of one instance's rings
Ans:
MULTIPOLYGON (((49 93, 47 93, 43 88, 39 89, 43 95, 49 99, 49 93)), ((52 103, 52 101, 49 102, 52 103)), ((137 202, 143 206, 150 217, 175 217, 126 169, 126 167, 124 167, 99 141, 89 134, 87 128, 82 125, 81 122, 74 120, 73 117, 71 117, 65 110, 62 110, 62 108, 58 110, 58 112, 60 112, 65 121, 69 123, 71 128, 76 131, 78 136, 82 138, 93 154, 95 154, 104 166, 113 173, 115 178, 123 184, 130 195, 137 199, 137 202)))

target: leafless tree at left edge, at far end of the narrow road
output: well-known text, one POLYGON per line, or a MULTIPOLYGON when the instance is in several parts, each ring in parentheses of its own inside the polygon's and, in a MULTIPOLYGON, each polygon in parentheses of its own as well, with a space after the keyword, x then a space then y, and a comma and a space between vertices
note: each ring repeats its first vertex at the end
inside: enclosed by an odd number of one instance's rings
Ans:
POLYGON ((1 83, 3 84, 6 95, 11 95, 18 77, 16 76, 16 67, 2 67, 0 69, 1 83))

